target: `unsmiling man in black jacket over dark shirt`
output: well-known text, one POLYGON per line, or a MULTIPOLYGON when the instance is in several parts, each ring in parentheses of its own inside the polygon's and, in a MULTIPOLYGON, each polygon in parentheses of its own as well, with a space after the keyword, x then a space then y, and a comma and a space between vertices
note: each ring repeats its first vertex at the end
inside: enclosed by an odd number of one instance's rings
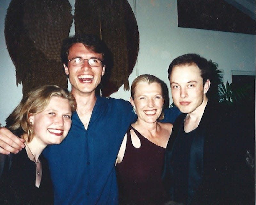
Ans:
POLYGON ((186 54, 172 61, 168 75, 173 102, 183 113, 166 148, 163 180, 170 200, 248 204, 241 195, 244 151, 239 147, 239 126, 216 99, 220 83, 216 66, 197 54, 186 54))

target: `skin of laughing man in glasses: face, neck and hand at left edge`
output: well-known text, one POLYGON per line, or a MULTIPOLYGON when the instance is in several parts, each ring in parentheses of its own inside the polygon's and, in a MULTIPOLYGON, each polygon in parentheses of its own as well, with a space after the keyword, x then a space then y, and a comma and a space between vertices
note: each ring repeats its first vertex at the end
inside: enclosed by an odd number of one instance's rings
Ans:
MULTIPOLYGON (((103 59, 102 54, 89 51, 82 43, 75 43, 69 50, 68 59, 74 57, 82 59, 98 58, 103 59)), ((73 67, 63 65, 65 73, 69 75, 72 85, 71 93, 74 95, 77 103, 77 114, 87 129, 91 118, 92 110, 96 102, 95 89, 100 84, 101 77, 105 73, 105 67, 91 67, 85 60, 83 66, 73 67), (84 78, 84 79, 83 79, 84 78)), ((18 153, 24 148, 24 140, 12 134, 7 128, 0 128, 0 153, 10 154, 18 153)))

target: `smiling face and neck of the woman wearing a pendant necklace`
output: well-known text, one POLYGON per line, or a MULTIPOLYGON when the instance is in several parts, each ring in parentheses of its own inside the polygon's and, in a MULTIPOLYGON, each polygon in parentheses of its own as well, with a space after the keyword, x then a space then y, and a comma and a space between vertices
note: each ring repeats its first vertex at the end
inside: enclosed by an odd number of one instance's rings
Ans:
POLYGON ((60 144, 66 138, 71 127, 71 115, 69 101, 61 97, 52 97, 42 112, 30 115, 34 136, 27 144, 36 160, 47 145, 60 144))

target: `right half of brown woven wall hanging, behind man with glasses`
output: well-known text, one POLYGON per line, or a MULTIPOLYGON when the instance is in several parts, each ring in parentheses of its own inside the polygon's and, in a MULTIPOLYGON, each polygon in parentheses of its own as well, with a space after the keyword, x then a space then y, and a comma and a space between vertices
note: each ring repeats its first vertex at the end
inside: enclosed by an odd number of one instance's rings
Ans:
POLYGON ((102 79, 103 96, 118 91, 123 84, 128 90, 128 77, 139 52, 139 31, 127 0, 76 0, 74 20, 76 34, 98 35, 112 52, 113 67, 106 68, 102 79))

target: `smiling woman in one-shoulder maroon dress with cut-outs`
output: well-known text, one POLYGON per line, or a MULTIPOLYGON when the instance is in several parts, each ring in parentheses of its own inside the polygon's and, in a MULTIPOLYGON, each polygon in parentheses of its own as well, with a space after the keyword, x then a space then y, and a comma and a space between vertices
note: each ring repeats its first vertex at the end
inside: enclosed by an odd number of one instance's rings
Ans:
POLYGON ((130 102, 138 119, 127 131, 117 156, 117 179, 122 205, 161 205, 164 153, 172 124, 158 122, 164 105, 163 82, 140 75, 131 86, 130 102))

